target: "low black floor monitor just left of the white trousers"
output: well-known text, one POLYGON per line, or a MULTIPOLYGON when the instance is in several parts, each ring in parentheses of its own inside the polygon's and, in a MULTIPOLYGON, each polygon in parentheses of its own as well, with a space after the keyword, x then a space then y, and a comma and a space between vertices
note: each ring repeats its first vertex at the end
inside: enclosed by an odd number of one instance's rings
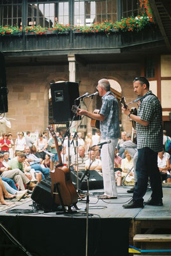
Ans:
MULTIPOLYGON (((82 190, 87 189, 87 175, 85 175, 84 179, 81 182, 82 177, 86 171, 78 172, 78 188, 82 190)), ((72 182, 77 188, 77 172, 71 171, 71 179, 72 182)), ((103 188, 103 177, 96 172, 95 170, 89 171, 89 189, 101 189, 103 188)))

